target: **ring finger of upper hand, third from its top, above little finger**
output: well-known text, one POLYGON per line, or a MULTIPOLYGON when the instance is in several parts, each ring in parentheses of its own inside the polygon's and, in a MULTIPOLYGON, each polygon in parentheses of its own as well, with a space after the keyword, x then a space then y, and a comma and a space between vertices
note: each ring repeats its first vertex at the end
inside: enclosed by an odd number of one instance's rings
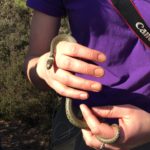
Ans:
POLYGON ((80 78, 62 69, 57 69, 54 79, 66 86, 76 89, 82 89, 84 91, 98 92, 102 88, 102 85, 99 82, 80 78))

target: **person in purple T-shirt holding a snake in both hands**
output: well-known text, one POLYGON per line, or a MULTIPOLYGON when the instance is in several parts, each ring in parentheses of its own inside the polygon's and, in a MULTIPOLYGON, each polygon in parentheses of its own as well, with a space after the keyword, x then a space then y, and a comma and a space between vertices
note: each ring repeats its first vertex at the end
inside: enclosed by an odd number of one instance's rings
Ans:
MULTIPOLYGON (((150 1, 133 3, 150 26, 150 1)), ((34 9, 24 65, 28 79, 42 90, 72 98, 89 127, 80 130, 69 124, 63 103, 53 123, 53 149, 149 149, 150 48, 108 0, 27 0, 27 5, 34 9), (55 63, 47 70, 49 46, 62 16, 68 16, 78 43, 60 42, 55 63), (119 139, 103 144, 96 135, 113 137, 109 124, 114 122, 120 127, 119 139)))

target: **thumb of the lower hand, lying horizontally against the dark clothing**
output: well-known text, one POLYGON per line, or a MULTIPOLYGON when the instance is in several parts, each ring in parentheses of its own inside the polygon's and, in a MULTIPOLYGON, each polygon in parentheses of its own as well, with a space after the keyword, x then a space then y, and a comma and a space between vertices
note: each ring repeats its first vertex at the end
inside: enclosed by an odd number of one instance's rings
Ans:
POLYGON ((129 107, 125 106, 93 107, 92 110, 94 114, 102 118, 123 118, 127 115, 127 109, 129 109, 129 107))

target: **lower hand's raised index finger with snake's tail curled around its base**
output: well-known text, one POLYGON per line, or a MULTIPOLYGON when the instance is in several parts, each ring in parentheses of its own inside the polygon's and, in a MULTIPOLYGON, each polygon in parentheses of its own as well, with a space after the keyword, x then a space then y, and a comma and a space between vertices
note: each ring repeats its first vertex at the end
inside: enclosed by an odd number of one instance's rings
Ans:
POLYGON ((104 138, 112 138, 114 136, 114 129, 105 123, 100 123, 100 121, 95 117, 92 111, 84 104, 80 105, 83 117, 90 128, 91 132, 95 135, 99 135, 104 138))

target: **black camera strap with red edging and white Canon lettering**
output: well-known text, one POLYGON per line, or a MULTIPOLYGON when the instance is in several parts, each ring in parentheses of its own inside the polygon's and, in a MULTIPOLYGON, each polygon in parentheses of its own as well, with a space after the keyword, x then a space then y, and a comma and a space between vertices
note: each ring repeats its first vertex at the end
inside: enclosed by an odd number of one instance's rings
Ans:
MULTIPOLYGON (((148 47, 150 47, 150 28, 142 18, 132 0, 110 0, 113 7, 121 14, 129 28, 148 47)), ((148 10, 149 11, 149 10, 148 10)))

